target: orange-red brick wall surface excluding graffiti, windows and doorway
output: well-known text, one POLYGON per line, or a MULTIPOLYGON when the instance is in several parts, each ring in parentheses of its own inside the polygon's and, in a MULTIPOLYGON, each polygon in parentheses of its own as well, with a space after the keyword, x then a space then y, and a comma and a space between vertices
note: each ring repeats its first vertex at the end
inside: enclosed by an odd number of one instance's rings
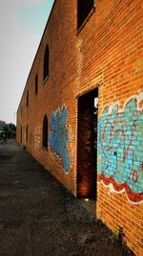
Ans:
MULTIPOLYGON (((95 2, 95 12, 77 34, 76 1, 55 1, 17 116, 17 140, 20 141, 22 124, 23 144, 27 146, 28 151, 75 196, 78 97, 98 86, 99 120, 108 105, 117 103, 120 112, 123 112, 126 103, 132 97, 139 99, 140 107, 143 103, 143 96, 140 94, 143 91, 143 2, 141 0, 96 0, 95 2), (50 75, 47 81, 43 82, 43 59, 47 44, 50 48, 50 75), (35 96, 34 78, 37 73, 38 94, 35 96), (28 107, 26 106, 27 89, 30 94, 28 107), (50 134, 51 113, 58 107, 61 109, 62 105, 66 105, 69 114, 67 122, 69 131, 67 147, 71 161, 69 174, 64 171, 61 157, 51 151, 50 141, 48 151, 42 149, 43 118, 47 114, 50 134), (29 125, 28 142, 25 134, 27 125, 29 125)), ((136 115, 138 113, 142 115, 142 108, 137 107, 136 115)), ((133 132, 141 130, 141 121, 139 122, 138 127, 133 124, 133 132)), ((127 128, 128 125, 129 123, 127 128)), ((141 132, 138 132, 139 140, 141 140, 141 132)), ((101 159, 99 164, 100 161, 101 159)), ((139 174, 141 176, 141 172, 139 174)), ((106 180, 101 174, 98 174, 98 177, 100 179, 98 178, 97 185, 97 217, 113 231, 119 226, 123 227, 124 240, 136 255, 141 255, 143 248, 141 193, 135 193, 134 196, 128 186, 121 190, 120 185, 114 185, 112 178, 108 177, 106 180), (114 186, 113 192, 110 184, 114 186)))

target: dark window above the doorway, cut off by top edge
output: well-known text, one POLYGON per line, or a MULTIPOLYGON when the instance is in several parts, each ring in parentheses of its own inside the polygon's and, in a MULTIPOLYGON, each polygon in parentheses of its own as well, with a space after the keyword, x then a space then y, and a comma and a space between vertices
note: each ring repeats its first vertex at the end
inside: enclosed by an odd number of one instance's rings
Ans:
POLYGON ((81 27, 93 7, 94 0, 77 0, 77 29, 81 27))

